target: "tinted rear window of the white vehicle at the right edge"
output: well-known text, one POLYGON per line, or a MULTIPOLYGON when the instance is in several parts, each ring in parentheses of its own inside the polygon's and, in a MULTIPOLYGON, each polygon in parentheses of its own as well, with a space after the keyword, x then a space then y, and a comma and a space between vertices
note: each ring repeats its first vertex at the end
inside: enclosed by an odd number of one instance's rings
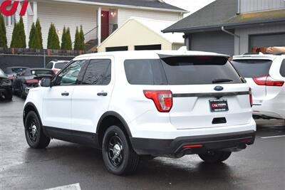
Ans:
POLYGON ((243 59, 233 60, 232 64, 244 78, 257 78, 269 75, 272 60, 243 59))

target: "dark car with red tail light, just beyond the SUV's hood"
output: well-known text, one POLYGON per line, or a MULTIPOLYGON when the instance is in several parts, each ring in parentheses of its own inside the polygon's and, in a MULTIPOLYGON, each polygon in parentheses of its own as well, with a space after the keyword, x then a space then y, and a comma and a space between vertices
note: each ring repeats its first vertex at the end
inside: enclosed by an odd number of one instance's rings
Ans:
POLYGON ((53 78, 54 75, 51 69, 27 68, 23 73, 16 76, 14 92, 18 93, 22 98, 25 98, 31 88, 39 86, 39 82, 42 78, 53 78))

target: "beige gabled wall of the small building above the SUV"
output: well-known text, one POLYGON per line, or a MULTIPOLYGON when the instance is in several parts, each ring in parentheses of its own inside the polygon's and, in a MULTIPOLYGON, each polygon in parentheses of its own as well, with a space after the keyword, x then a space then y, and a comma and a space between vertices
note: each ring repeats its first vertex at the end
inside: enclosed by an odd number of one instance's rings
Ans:
POLYGON ((161 44, 162 50, 172 50, 172 43, 158 33, 138 21, 129 20, 98 46, 98 52, 105 52, 106 48, 118 46, 128 46, 128 50, 133 51, 135 46, 155 44, 161 44))

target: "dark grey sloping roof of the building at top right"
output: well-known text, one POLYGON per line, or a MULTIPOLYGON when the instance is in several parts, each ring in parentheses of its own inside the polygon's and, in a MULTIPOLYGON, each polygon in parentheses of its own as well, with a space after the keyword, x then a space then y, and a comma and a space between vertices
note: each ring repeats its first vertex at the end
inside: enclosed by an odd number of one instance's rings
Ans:
POLYGON ((222 26, 236 28, 248 24, 285 21, 285 10, 237 14, 237 0, 216 0, 162 32, 197 32, 219 30, 222 26))

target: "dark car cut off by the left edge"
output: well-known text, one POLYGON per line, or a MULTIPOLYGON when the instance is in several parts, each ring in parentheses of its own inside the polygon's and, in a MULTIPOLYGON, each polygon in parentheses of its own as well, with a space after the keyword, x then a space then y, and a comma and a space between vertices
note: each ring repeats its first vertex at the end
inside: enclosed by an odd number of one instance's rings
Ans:
POLYGON ((0 97, 3 96, 6 100, 12 100, 13 87, 11 80, 7 78, 4 71, 0 69, 0 97))

